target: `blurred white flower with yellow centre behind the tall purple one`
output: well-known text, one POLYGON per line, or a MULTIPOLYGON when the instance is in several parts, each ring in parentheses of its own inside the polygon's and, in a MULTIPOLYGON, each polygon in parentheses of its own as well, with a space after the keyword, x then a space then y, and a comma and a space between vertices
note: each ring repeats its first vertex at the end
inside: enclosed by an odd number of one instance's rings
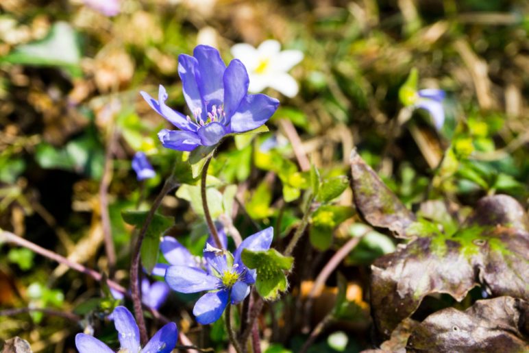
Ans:
POLYGON ((297 82, 288 75, 288 70, 303 60, 301 51, 281 51, 277 40, 265 40, 257 49, 246 43, 236 44, 232 47, 232 55, 246 66, 251 93, 270 87, 286 97, 297 95, 297 82))

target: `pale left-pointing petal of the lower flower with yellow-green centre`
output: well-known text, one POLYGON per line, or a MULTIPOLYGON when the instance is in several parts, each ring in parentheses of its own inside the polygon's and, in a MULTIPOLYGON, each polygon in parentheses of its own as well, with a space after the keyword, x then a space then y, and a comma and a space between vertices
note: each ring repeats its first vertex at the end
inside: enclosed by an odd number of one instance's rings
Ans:
POLYGON ((221 285, 219 278, 208 275, 206 271, 186 266, 171 266, 165 272, 165 282, 173 291, 197 293, 212 291, 221 285))

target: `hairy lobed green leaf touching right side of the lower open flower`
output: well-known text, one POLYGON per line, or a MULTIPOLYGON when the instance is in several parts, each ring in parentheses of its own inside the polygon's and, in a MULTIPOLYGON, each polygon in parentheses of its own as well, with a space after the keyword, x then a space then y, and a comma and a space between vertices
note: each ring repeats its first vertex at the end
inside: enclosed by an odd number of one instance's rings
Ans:
POLYGON ((256 289, 264 300, 276 300, 280 292, 286 291, 288 282, 284 271, 292 268, 293 257, 283 256, 276 249, 256 252, 243 249, 241 259, 249 269, 256 269, 256 289))

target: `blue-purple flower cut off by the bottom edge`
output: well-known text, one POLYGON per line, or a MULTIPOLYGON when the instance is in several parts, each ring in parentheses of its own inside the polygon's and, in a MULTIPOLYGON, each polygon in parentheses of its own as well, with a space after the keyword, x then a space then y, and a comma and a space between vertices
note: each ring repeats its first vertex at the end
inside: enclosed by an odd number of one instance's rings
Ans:
MULTIPOLYGON (((134 317, 125 306, 116 306, 112 312, 112 319, 114 319, 114 326, 118 332, 118 339, 120 344, 119 352, 158 352, 169 353, 175 348, 178 338, 178 330, 174 322, 160 328, 151 340, 142 349, 140 346, 140 330, 134 321, 134 317)), ((93 336, 84 333, 78 333, 75 336, 75 346, 79 353, 112 353, 108 345, 99 341, 93 336)))

